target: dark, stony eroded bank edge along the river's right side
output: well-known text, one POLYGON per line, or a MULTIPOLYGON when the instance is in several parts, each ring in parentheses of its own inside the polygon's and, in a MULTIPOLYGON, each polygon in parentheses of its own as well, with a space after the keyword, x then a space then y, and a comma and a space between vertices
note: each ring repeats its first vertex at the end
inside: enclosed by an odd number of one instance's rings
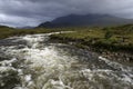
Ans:
POLYGON ((100 42, 95 42, 92 44, 92 42, 85 41, 84 39, 73 39, 65 37, 65 34, 53 34, 51 36, 51 41, 60 42, 60 43, 68 43, 81 49, 85 49, 88 51, 93 51, 98 53, 99 56, 102 56, 103 58, 119 61, 119 62, 126 62, 127 65, 132 66, 133 63, 133 52, 132 48, 126 48, 124 46, 108 46, 102 44, 100 42))

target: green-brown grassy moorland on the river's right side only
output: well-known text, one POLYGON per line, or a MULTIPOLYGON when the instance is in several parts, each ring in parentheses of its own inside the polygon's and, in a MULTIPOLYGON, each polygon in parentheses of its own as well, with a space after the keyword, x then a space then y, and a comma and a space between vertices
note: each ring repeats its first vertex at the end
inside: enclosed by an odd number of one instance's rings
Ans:
POLYGON ((96 51, 129 51, 133 52, 133 26, 106 28, 80 28, 72 33, 51 36, 60 42, 74 42, 80 48, 94 48, 96 51))

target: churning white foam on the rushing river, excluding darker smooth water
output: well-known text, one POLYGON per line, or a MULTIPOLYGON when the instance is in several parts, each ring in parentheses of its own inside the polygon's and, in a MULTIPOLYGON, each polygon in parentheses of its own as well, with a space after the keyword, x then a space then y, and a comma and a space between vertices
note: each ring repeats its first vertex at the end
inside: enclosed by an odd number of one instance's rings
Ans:
MULTIPOLYGON (((60 32, 55 32, 60 33, 60 32)), ((0 71, 12 69, 18 71, 21 83, 13 89, 132 89, 132 68, 112 62, 99 57, 105 65, 117 69, 84 68, 78 56, 72 56, 54 44, 45 46, 47 34, 18 37, 16 41, 24 40, 27 46, 17 49, 17 46, 1 47, 6 55, 13 56, 12 60, 0 63, 0 71), (12 62, 23 60, 18 68, 12 62), (75 66, 80 66, 74 68, 75 66), (83 67, 83 68, 81 68, 83 67)), ((61 43, 59 44, 61 46, 61 43)), ((83 59, 82 59, 83 60, 83 59)), ((96 61, 96 60, 95 60, 96 61)))

